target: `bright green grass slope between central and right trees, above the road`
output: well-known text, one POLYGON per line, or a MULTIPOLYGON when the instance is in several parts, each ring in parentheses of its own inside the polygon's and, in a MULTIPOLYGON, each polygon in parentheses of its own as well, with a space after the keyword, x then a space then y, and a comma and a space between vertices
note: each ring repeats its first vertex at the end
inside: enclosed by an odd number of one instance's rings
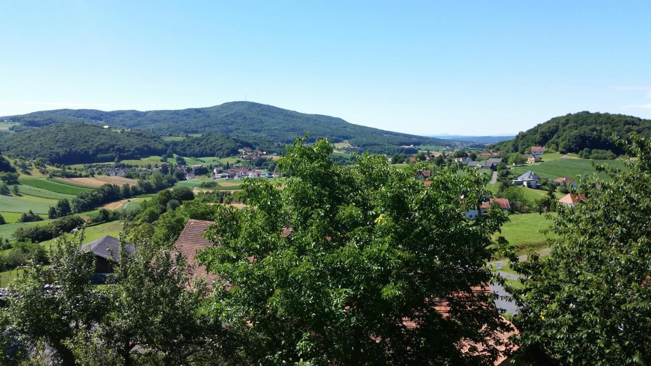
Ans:
MULTIPOLYGON (((553 215, 553 214, 551 214, 553 215)), ((502 227, 502 234, 510 244, 518 248, 519 253, 540 249, 547 246, 545 234, 552 221, 546 214, 514 214, 508 216, 510 221, 502 227)))

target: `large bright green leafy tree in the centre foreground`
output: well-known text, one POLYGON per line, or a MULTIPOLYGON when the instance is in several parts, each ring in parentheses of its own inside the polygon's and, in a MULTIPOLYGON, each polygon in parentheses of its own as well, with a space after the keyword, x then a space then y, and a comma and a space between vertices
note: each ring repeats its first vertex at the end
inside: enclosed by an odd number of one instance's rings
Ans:
POLYGON ((224 321, 258 340, 253 358, 493 365, 495 330, 508 325, 490 294, 463 295, 492 279, 492 234, 507 219, 499 210, 464 218, 486 193, 482 177, 441 173, 424 186, 383 156, 339 167, 327 140, 304 142, 279 161, 292 174, 283 190, 248 180, 247 208, 217 207, 207 234, 217 245, 201 255, 228 284, 216 303, 224 321), (449 302, 447 315, 437 300, 449 302))

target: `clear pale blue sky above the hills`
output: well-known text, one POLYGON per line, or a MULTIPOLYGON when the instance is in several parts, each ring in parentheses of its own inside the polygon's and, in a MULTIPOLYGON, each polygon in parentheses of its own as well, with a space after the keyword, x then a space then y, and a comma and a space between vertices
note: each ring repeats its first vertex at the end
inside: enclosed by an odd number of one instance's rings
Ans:
POLYGON ((1 1, 0 20, 0 115, 246 99, 413 134, 651 118, 649 0, 1 1))

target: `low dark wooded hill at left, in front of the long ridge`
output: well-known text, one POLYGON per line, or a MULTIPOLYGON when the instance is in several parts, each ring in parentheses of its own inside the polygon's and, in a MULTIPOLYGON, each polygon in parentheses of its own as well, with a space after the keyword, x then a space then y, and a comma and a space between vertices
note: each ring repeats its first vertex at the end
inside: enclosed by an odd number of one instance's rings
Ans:
POLYGON ((8 134, 0 150, 12 156, 44 158, 52 163, 113 162, 165 153, 163 140, 144 131, 123 133, 84 123, 57 123, 8 134))

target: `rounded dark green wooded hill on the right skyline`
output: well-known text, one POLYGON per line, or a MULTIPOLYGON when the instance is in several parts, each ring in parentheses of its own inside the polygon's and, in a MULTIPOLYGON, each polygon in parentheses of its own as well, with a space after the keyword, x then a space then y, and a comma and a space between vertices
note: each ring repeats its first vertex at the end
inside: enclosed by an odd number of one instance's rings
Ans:
POLYGON ((522 153, 532 146, 558 149, 563 153, 581 152, 589 148, 611 150, 615 154, 621 154, 622 150, 615 146, 612 139, 613 132, 620 137, 626 137, 629 132, 648 136, 651 132, 651 120, 584 111, 554 117, 530 130, 520 132, 515 139, 495 144, 494 148, 522 153))

